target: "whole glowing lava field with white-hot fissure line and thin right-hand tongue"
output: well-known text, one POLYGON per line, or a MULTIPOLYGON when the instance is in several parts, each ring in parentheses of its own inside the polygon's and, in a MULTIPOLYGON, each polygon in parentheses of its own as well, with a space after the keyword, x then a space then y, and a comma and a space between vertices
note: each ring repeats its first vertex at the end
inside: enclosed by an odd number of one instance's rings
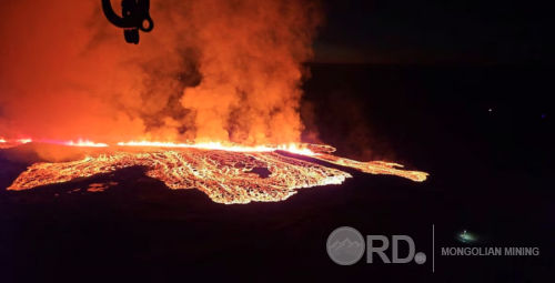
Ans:
POLYGON ((245 148, 221 143, 158 142, 119 145, 115 149, 90 151, 79 161, 33 164, 8 189, 27 190, 142 165, 149 169, 147 175, 163 181, 170 189, 199 189, 214 202, 232 204, 282 201, 295 194, 295 189, 341 184, 352 176, 336 169, 284 156, 278 151, 309 155, 372 174, 392 174, 413 181, 424 181, 427 176, 424 172, 395 169, 394 166, 401 165, 394 163, 357 162, 337 158, 330 154, 334 149, 325 145, 245 148), (123 150, 123 146, 140 148, 123 150), (268 170, 269 176, 255 173, 256 169, 268 170))

